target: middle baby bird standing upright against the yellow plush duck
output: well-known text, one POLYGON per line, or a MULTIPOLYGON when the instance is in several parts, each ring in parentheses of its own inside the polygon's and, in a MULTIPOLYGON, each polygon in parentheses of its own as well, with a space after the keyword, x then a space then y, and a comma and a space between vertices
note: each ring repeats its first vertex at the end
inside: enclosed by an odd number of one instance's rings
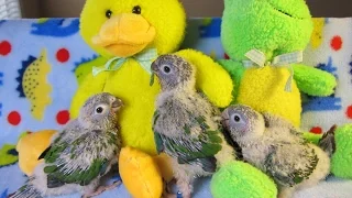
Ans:
POLYGON ((172 158, 176 184, 184 198, 193 180, 216 172, 233 160, 233 148, 220 132, 220 111, 196 91, 196 70, 176 55, 161 56, 152 64, 162 92, 157 97, 153 131, 157 151, 172 158))

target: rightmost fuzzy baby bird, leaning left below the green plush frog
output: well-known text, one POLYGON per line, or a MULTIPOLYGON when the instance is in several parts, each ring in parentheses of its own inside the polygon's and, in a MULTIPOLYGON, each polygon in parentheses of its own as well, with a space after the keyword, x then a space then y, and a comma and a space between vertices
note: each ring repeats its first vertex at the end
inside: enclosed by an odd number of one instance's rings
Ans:
POLYGON ((222 112, 222 125, 241 146, 243 160, 276 182, 280 198, 316 185, 330 173, 328 154, 278 117, 238 105, 222 112))

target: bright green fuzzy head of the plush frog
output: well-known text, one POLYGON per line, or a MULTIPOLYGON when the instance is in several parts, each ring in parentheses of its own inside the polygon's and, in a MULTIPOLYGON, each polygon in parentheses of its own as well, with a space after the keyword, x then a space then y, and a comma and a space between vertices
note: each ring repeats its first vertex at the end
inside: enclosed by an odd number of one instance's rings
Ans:
POLYGON ((253 47, 268 59, 301 51, 312 31, 305 0, 226 0, 222 21, 223 47, 237 61, 253 47))

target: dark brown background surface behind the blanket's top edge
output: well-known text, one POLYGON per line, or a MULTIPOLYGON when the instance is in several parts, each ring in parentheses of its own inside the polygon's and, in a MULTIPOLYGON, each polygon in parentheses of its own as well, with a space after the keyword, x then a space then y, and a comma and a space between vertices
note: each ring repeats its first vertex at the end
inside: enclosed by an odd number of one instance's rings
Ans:
MULTIPOLYGON (((188 16, 221 16, 222 0, 182 0, 188 16)), ((85 0, 21 0, 25 18, 79 16, 85 0)), ((307 0, 314 16, 352 16, 352 0, 307 0)))

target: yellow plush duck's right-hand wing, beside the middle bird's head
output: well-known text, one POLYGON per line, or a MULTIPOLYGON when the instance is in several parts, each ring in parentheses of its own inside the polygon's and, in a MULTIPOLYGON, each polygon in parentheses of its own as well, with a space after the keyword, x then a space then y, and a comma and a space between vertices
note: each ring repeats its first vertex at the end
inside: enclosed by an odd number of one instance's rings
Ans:
POLYGON ((223 108, 232 101, 233 84, 230 75, 209 56, 184 50, 175 53, 197 67, 197 88, 201 89, 217 107, 223 108))

